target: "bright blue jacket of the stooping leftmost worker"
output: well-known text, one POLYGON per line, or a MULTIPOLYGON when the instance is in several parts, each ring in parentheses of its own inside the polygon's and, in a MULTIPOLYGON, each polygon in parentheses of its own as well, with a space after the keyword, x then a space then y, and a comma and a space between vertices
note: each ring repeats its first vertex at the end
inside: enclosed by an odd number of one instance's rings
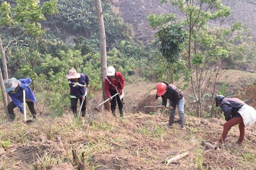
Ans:
POLYGON ((20 111, 24 113, 24 108, 22 106, 23 103, 23 90, 25 91, 26 98, 29 99, 31 102, 36 103, 36 97, 34 96, 34 93, 31 91, 29 85, 31 84, 32 80, 30 78, 24 78, 19 79, 19 81, 22 83, 19 85, 19 89, 16 93, 13 93, 12 91, 8 92, 8 95, 12 99, 12 102, 19 107, 20 111))

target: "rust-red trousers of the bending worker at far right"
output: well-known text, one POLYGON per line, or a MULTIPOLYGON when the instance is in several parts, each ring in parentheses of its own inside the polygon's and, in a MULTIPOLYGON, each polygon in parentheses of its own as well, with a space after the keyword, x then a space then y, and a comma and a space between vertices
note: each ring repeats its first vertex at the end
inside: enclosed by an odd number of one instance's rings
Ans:
POLYGON ((223 125, 223 132, 222 132, 222 136, 219 139, 219 142, 223 142, 226 137, 227 137, 227 133, 229 133, 229 130, 234 126, 239 124, 239 131, 240 131, 240 135, 239 135, 239 143, 243 143, 244 140, 244 135, 246 133, 246 128, 244 126, 244 122, 243 122, 243 118, 241 117, 233 117, 232 119, 230 119, 229 121, 227 121, 224 125, 223 125))

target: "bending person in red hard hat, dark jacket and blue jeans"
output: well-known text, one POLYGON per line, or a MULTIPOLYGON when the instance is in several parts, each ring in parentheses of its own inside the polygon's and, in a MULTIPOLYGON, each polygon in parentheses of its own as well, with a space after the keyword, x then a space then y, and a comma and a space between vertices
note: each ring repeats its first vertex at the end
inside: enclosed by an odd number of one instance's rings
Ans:
POLYGON ((181 129, 185 129, 185 114, 184 114, 184 96, 183 92, 176 86, 168 84, 168 82, 163 81, 156 86, 156 99, 162 97, 162 108, 166 108, 167 99, 170 103, 170 117, 169 117, 169 127, 171 128, 174 124, 176 107, 178 107, 178 113, 180 115, 180 125, 181 129))

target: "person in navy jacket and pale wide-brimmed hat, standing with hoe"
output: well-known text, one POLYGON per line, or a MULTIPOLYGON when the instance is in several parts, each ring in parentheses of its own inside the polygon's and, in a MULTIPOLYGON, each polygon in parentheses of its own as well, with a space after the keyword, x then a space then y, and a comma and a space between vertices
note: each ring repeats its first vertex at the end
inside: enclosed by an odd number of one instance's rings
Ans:
POLYGON ((86 95, 87 95, 85 93, 86 92, 85 88, 89 88, 90 79, 87 75, 82 74, 82 73, 77 73, 76 70, 74 70, 74 69, 69 70, 69 73, 68 73, 68 75, 66 75, 66 78, 68 78, 68 80, 69 80, 71 109, 73 111, 73 114, 75 115, 75 117, 78 116, 77 104, 78 104, 78 100, 79 100, 80 105, 82 105, 82 108, 81 108, 82 117, 85 117, 86 95))

